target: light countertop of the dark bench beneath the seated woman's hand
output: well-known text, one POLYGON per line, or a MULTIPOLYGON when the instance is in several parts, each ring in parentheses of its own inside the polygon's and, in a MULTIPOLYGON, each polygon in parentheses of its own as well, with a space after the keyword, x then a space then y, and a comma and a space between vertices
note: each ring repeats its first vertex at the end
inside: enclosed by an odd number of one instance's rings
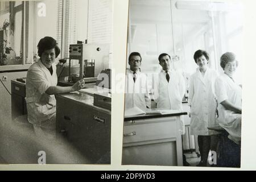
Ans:
POLYGON ((71 93, 57 94, 56 98, 63 98, 67 101, 76 102, 76 104, 85 105, 87 107, 96 109, 96 110, 104 112, 106 114, 111 114, 111 111, 108 109, 94 106, 93 105, 93 96, 90 96, 89 94, 85 94, 85 93, 81 93, 81 92, 71 92, 71 93))

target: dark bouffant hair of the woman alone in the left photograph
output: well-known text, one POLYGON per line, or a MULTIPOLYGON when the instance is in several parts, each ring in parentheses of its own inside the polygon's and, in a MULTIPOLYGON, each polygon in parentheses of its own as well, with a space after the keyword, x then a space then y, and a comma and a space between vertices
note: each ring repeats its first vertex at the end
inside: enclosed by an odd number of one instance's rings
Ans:
POLYGON ((55 57, 58 57, 60 54, 60 48, 57 46, 57 42, 50 36, 46 36, 43 39, 40 39, 38 43, 38 56, 41 57, 42 53, 48 49, 55 49, 55 57))

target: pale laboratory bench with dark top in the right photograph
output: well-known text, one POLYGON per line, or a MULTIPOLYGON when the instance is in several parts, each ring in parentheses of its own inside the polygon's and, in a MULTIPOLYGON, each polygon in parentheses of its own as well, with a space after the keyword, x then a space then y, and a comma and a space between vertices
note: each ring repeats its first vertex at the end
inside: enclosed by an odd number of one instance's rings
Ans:
POLYGON ((183 166, 180 116, 187 113, 126 116, 123 165, 183 166))

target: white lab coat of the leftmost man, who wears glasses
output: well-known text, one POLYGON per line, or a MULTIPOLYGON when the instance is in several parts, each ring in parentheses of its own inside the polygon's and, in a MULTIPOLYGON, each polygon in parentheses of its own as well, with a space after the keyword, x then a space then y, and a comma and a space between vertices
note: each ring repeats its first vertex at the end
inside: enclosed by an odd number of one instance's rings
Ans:
POLYGON ((151 108, 151 99, 148 90, 147 76, 144 73, 138 72, 137 79, 134 83, 133 71, 126 71, 126 93, 125 93, 125 109, 130 109, 135 106, 146 111, 146 106, 151 108))

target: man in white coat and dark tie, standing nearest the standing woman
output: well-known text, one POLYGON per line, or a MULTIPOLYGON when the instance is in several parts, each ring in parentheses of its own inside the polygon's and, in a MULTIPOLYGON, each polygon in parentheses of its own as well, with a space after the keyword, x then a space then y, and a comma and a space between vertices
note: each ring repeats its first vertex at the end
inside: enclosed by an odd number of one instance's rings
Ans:
MULTIPOLYGON (((182 100, 185 94, 185 81, 183 76, 171 69, 171 56, 161 53, 158 57, 162 67, 154 88, 154 101, 159 110, 183 110, 182 100)), ((185 134, 183 116, 180 116, 180 129, 185 134)), ((190 166, 183 154, 183 166, 190 166)))

